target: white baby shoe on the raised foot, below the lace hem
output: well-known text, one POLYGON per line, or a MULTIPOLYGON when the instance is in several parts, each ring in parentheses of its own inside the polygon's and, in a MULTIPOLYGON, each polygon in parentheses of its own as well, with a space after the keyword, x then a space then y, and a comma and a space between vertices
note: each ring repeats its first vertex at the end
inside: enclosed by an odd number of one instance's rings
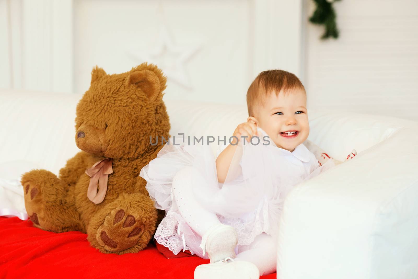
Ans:
POLYGON ((238 243, 238 234, 229 225, 216 225, 210 228, 202 237, 200 247, 203 255, 208 254, 211 263, 225 258, 235 258, 235 246, 238 243))

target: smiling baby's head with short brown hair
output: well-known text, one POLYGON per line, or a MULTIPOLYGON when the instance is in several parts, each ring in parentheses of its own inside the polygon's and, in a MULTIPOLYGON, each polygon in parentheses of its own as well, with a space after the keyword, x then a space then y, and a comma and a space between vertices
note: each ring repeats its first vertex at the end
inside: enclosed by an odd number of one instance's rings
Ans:
POLYGON ((247 107, 249 119, 276 146, 293 152, 308 138, 306 91, 295 74, 279 69, 261 72, 248 88, 247 107))

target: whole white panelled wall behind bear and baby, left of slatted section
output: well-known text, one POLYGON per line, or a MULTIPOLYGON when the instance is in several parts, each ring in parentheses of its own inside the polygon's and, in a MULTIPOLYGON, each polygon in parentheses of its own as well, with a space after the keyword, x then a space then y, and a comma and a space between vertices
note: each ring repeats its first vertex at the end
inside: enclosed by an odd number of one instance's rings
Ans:
POLYGON ((95 65, 148 61, 168 76, 166 99, 244 103, 260 71, 301 75, 302 0, 0 1, 6 88, 84 92, 95 65))

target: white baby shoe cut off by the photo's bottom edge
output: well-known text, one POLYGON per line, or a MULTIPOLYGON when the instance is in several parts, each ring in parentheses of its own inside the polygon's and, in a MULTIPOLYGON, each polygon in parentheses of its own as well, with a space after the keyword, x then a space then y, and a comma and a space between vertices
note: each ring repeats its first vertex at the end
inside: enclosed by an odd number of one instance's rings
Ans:
POLYGON ((259 279, 260 271, 249 261, 226 258, 213 264, 201 264, 194 270, 194 279, 259 279))

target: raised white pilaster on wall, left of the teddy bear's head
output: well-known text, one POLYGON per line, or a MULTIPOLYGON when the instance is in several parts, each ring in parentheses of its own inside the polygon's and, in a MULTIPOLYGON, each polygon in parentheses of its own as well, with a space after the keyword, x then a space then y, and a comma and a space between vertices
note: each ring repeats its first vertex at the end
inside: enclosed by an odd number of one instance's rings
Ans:
POLYGON ((72 92, 72 0, 23 0, 22 87, 72 92))

